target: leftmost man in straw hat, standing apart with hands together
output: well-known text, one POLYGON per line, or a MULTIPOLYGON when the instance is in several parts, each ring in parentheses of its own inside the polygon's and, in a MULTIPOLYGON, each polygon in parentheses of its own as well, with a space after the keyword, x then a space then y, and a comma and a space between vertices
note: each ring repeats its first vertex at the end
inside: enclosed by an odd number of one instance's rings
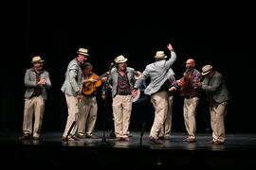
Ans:
POLYGON ((23 120, 23 133, 20 140, 30 139, 34 140, 40 137, 40 131, 45 111, 45 101, 47 99, 46 89, 51 87, 49 74, 43 69, 45 60, 40 56, 32 58, 33 67, 27 69, 25 74, 25 86, 27 88, 25 93, 25 107, 23 120), (32 130, 32 120, 34 113, 34 127, 32 130))

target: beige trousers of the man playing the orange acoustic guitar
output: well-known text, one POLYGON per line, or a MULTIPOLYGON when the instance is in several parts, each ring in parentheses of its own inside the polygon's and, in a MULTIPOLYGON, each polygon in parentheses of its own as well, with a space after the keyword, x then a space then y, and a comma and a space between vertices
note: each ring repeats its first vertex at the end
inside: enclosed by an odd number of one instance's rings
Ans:
POLYGON ((97 119, 97 100, 95 96, 82 95, 78 120, 78 134, 91 136, 97 119), (86 128, 85 128, 86 127, 86 128))

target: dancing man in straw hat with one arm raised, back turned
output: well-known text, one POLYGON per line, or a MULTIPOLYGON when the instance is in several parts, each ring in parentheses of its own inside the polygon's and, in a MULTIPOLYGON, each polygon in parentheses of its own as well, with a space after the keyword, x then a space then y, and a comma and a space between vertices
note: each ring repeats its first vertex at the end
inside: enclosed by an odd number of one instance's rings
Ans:
POLYGON ((137 79, 133 91, 133 97, 135 97, 140 84, 150 77, 151 82, 144 93, 151 95, 151 101, 155 107, 155 120, 150 131, 150 140, 155 144, 162 144, 158 139, 158 135, 168 111, 168 78, 174 75, 171 66, 176 60, 176 54, 171 43, 167 45, 167 48, 171 51, 171 58, 166 60, 167 56, 165 56, 164 52, 157 51, 155 62, 146 66, 146 69, 137 79))

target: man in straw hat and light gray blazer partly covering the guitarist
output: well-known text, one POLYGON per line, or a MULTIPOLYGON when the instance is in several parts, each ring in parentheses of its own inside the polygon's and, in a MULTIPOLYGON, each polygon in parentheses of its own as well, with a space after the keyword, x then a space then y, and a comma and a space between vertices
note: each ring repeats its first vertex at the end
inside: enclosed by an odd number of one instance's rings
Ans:
POLYGON ((62 140, 66 138, 68 141, 79 141, 75 136, 77 132, 77 121, 80 114, 80 100, 82 98, 82 84, 83 84, 83 74, 82 74, 82 63, 87 59, 88 50, 85 48, 79 48, 78 56, 72 59, 66 69, 64 84, 62 91, 65 95, 65 100, 68 108, 68 116, 66 120, 66 125, 64 128, 64 134, 62 140), (74 123, 74 127, 72 124, 74 123), (72 127, 69 136, 67 133, 72 127))

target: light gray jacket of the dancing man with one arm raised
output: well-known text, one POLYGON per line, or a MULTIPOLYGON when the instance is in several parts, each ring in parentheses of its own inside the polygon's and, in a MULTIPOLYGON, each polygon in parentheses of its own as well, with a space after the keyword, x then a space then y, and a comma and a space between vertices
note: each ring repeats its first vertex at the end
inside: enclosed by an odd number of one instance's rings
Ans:
POLYGON ((160 90, 161 86, 165 83, 165 81, 172 75, 174 75, 174 71, 171 66, 174 64, 176 60, 176 54, 174 51, 171 51, 171 58, 166 60, 158 60, 154 63, 151 63, 146 66, 146 69, 139 76, 136 81, 135 88, 138 89, 140 84, 145 81, 148 77, 150 77, 151 82, 145 89, 144 93, 151 95, 160 90))

